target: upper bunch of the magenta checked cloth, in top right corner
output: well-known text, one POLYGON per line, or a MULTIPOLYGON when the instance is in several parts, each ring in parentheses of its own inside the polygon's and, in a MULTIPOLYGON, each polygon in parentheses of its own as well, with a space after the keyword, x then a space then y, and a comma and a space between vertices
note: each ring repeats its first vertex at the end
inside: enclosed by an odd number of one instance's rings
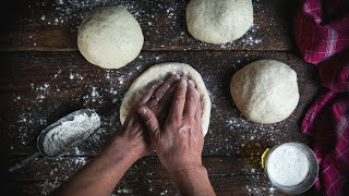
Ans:
POLYGON ((349 0, 305 0, 294 20, 303 60, 316 64, 349 47, 349 0))

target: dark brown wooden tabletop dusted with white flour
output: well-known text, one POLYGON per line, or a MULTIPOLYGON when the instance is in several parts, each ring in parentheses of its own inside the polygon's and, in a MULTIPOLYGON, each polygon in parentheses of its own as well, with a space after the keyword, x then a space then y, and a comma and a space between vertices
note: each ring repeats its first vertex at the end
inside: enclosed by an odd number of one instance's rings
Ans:
MULTIPOLYGON (((314 66, 302 62, 294 52, 291 17, 297 4, 254 0, 254 26, 246 35, 232 44, 207 45, 193 39, 186 30, 188 0, 71 2, 17 1, 4 8, 9 16, 2 21, 9 28, 1 29, 0 35, 0 120, 8 166, 34 154, 40 131, 74 110, 95 109, 103 119, 101 128, 69 155, 58 159, 41 157, 13 172, 11 176, 21 192, 47 194, 85 164, 120 131, 119 108, 132 81, 153 64, 177 61, 196 69, 209 90, 213 107, 203 162, 217 194, 281 195, 264 174, 260 157, 265 148, 277 144, 308 142, 299 127, 320 89, 314 66), (103 4, 128 8, 145 36, 142 53, 120 70, 94 66, 76 48, 81 19, 92 8, 103 4), (248 122, 229 93, 233 73, 260 59, 282 61, 298 74, 299 106, 287 120, 273 125, 248 122)), ((115 193, 173 195, 177 192, 154 155, 139 160, 115 193)))

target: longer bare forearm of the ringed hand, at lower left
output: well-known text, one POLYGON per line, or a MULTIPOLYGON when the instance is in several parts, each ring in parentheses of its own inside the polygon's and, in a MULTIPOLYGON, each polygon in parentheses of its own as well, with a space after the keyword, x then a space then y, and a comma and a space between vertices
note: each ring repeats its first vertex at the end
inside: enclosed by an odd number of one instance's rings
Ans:
POLYGON ((55 194, 110 195, 136 159, 124 149, 120 138, 116 138, 95 159, 64 182, 55 194))

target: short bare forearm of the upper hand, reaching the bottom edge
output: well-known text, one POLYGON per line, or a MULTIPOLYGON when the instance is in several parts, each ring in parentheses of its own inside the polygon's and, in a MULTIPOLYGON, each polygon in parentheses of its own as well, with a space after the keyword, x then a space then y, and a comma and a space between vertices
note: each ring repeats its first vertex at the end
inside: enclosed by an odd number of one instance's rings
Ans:
POLYGON ((171 172, 171 176, 182 195, 216 195, 203 166, 171 172))

